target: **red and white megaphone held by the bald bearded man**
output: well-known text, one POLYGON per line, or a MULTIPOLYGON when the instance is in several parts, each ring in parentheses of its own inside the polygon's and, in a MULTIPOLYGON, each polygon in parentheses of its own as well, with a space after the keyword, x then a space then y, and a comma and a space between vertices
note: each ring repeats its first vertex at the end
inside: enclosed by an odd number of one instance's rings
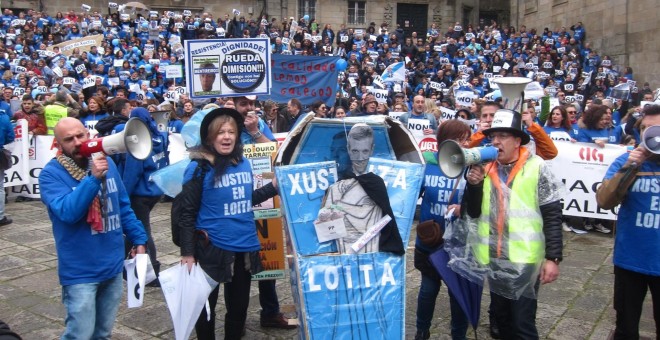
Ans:
POLYGON ((145 160, 151 153, 151 132, 144 122, 131 118, 126 122, 124 131, 103 138, 94 138, 80 146, 80 154, 91 157, 97 152, 116 155, 128 152, 139 160, 145 160))

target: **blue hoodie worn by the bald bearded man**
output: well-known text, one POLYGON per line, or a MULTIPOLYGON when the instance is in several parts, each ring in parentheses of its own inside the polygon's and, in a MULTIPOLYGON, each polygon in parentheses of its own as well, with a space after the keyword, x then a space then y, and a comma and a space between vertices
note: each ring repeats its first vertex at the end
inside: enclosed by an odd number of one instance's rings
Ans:
POLYGON ((101 282, 116 277, 124 266, 124 234, 132 244, 146 244, 147 235, 135 217, 114 162, 108 158, 106 175, 107 221, 103 231, 93 231, 87 211, 101 189, 88 175, 74 179, 52 159, 39 175, 41 200, 48 207, 57 249, 57 271, 62 286, 101 282))

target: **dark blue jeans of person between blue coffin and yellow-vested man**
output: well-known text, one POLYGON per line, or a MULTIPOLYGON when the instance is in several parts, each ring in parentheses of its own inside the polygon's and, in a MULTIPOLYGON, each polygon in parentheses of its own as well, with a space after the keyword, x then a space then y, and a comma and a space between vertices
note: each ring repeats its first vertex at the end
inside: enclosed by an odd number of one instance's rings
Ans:
MULTIPOLYGON (((417 296, 417 330, 427 331, 431 328, 435 300, 440 292, 440 280, 437 277, 422 274, 422 283, 417 296)), ((451 309, 451 338, 453 340, 464 340, 468 328, 468 319, 454 297, 449 292, 449 307, 451 309)))

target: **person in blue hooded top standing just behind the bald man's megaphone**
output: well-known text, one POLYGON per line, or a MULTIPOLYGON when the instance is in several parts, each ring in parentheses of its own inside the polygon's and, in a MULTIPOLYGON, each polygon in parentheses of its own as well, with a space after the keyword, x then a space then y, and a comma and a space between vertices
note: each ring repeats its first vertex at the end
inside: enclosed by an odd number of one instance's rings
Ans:
MULTIPOLYGON (((143 107, 138 107, 131 111, 131 118, 137 118, 149 127, 151 132, 152 150, 146 159, 140 160, 133 157, 130 153, 126 155, 123 167, 122 180, 126 187, 126 193, 131 199, 131 208, 135 211, 135 216, 142 222, 147 232, 149 240, 147 241, 147 252, 154 266, 156 276, 160 271, 160 262, 156 254, 156 244, 151 235, 151 224, 149 214, 156 203, 160 201, 163 191, 151 181, 151 175, 158 169, 167 166, 167 144, 163 135, 158 131, 156 123, 151 118, 149 111, 143 107)), ((150 285, 158 286, 158 281, 153 281, 150 285)))

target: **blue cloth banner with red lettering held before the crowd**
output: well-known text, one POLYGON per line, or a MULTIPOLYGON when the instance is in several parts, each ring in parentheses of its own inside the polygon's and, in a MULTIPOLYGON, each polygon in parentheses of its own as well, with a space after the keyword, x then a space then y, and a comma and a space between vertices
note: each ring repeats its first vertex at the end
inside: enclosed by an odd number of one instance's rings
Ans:
POLYGON ((335 63, 339 57, 273 54, 272 58, 272 91, 260 99, 286 103, 296 98, 303 105, 322 100, 334 106, 338 75, 335 63))

